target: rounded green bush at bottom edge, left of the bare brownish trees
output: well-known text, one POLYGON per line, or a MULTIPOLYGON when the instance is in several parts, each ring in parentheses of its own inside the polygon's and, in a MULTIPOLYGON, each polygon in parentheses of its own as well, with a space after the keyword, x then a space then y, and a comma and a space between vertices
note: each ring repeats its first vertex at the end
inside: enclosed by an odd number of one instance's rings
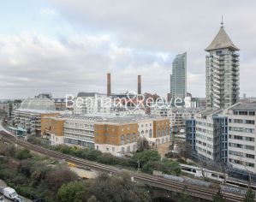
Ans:
POLYGON ((85 181, 71 181, 63 184, 57 192, 59 202, 84 202, 90 197, 85 181))

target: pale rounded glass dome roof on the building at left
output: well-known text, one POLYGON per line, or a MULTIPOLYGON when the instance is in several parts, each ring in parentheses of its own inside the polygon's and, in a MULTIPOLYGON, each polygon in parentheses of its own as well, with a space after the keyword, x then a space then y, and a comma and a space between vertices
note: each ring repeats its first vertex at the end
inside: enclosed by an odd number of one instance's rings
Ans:
POLYGON ((56 110, 55 104, 49 98, 27 98, 22 103, 21 110, 56 110))

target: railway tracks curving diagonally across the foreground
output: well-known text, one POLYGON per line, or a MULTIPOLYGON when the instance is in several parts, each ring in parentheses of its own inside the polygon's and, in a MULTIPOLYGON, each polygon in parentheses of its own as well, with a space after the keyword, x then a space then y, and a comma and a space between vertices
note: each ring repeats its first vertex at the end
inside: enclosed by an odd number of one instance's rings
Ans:
MULTIPOLYGON (((17 138, 15 138, 15 136, 8 134, 4 131, 0 131, 0 135, 3 137, 3 140, 8 143, 15 143, 19 146, 25 147, 32 151, 39 152, 39 153, 44 154, 49 157, 54 157, 57 159, 65 160, 70 163, 75 163, 82 167, 88 167, 91 169, 96 169, 96 170, 104 171, 104 172, 111 172, 114 175, 120 171, 126 171, 129 173, 129 175, 134 177, 135 181, 143 182, 152 187, 158 187, 158 188, 162 188, 164 190, 168 190, 168 191, 176 192, 176 193, 181 193, 184 189, 186 189, 188 194, 190 194, 191 196, 197 197, 200 199, 208 199, 208 200, 212 200, 212 195, 214 193, 217 193, 217 188, 213 188, 213 187, 193 186, 191 184, 184 184, 182 182, 167 180, 167 179, 164 179, 164 178, 161 178, 158 176, 140 174, 140 173, 136 173, 134 171, 128 170, 128 169, 118 169, 114 166, 104 165, 101 163, 95 163, 95 162, 81 159, 78 157, 72 157, 67 154, 63 154, 63 153, 60 153, 57 151, 52 151, 52 150, 46 149, 45 147, 35 146, 33 144, 28 143, 25 140, 17 139, 17 138)), ((230 202, 243 201, 243 196, 241 196, 241 195, 235 195, 235 194, 231 194, 231 193, 223 193, 223 195, 230 202)))

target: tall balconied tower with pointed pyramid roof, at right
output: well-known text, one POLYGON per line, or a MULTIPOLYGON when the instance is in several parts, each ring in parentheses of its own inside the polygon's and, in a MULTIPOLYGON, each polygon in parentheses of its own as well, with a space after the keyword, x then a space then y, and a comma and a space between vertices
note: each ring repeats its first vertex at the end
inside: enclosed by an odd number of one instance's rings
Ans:
POLYGON ((227 108, 239 101, 239 49, 229 39, 223 22, 205 51, 206 107, 227 108))

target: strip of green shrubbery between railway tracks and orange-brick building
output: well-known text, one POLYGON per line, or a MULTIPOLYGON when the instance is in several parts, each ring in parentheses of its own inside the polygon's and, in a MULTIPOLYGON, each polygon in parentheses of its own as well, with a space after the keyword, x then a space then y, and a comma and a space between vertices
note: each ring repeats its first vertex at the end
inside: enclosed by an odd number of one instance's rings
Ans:
MULTIPOLYGON (((35 138, 29 139, 32 143, 39 143, 35 138)), ((44 146, 41 144, 41 146, 44 146)), ((59 151, 64 154, 74 157, 81 157, 87 160, 104 163, 109 165, 121 166, 128 169, 137 169, 140 162, 140 169, 143 172, 152 174, 152 170, 156 169, 163 171, 166 174, 180 175, 182 169, 177 162, 172 162, 168 159, 161 160, 161 157, 156 150, 144 150, 135 152, 131 158, 114 157, 110 153, 102 153, 94 149, 82 149, 80 147, 71 146, 46 146, 51 150, 59 151)))

